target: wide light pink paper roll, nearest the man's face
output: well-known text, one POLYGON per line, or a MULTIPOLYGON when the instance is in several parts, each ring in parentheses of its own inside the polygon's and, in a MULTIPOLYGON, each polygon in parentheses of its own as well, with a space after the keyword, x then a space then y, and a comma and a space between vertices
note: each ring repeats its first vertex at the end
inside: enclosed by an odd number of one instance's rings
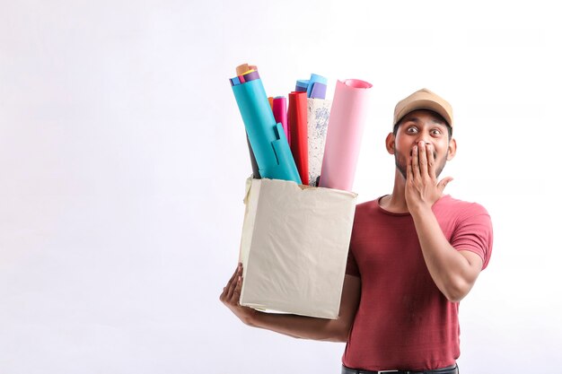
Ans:
POLYGON ((373 84, 358 79, 336 83, 329 110, 320 187, 352 191, 371 87, 373 84))

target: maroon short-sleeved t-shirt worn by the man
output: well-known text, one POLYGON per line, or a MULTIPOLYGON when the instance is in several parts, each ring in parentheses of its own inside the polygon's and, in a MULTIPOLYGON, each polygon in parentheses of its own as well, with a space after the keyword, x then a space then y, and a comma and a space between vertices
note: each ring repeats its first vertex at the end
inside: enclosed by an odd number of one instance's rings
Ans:
MULTIPOLYGON (((433 206, 445 237, 487 266, 490 216, 479 204, 443 196, 433 206)), ((378 200, 358 204, 347 274, 361 278, 361 302, 343 363, 364 370, 432 370, 459 357, 459 303, 435 285, 409 213, 390 213, 378 200)))

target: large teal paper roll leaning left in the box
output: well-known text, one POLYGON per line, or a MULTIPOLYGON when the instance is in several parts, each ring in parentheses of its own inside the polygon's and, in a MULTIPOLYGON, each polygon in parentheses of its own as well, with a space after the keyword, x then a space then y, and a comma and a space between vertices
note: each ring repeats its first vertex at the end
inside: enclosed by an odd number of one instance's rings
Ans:
POLYGON ((273 117, 261 79, 232 88, 261 178, 293 180, 301 184, 283 126, 273 117))

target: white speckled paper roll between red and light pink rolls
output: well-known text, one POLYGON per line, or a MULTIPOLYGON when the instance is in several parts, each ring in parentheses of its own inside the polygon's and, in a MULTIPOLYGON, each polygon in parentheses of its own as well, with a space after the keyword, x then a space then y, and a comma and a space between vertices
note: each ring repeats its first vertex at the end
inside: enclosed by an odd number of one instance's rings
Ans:
MULTIPOLYGON (((317 83, 318 84, 318 83, 317 83)), ((317 186, 328 131, 331 100, 307 99, 308 122, 308 184, 317 186)))

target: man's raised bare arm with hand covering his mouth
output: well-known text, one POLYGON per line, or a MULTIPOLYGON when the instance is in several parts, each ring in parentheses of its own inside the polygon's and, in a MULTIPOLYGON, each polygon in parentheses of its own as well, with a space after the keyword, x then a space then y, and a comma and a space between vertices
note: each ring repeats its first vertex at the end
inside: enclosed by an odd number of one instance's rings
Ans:
POLYGON ((408 163, 406 201, 416 226, 427 269, 448 300, 464 298, 482 270, 482 259, 468 250, 456 250, 443 235, 431 210, 451 178, 436 182, 431 146, 420 144, 408 163))

